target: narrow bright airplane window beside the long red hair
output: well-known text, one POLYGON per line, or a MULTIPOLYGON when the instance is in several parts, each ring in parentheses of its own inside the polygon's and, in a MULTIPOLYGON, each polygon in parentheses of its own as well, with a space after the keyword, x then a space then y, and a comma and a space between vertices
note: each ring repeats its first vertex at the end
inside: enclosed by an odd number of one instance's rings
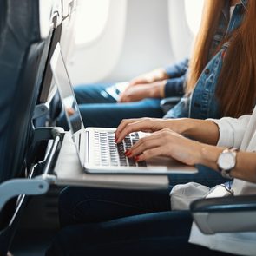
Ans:
POLYGON ((203 9, 204 0, 185 0, 185 10, 187 16, 187 24, 189 29, 195 35, 199 30, 200 18, 203 9))

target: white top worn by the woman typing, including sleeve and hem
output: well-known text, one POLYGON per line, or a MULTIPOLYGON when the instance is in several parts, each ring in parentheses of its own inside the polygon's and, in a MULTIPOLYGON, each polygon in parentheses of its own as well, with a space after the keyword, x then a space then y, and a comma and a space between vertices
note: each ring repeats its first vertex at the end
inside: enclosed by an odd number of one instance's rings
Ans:
MULTIPOLYGON (((210 120, 220 128, 218 146, 251 152, 256 150, 256 107, 252 115, 243 115, 239 119, 224 117, 210 120)), ((256 184, 238 179, 234 179, 232 189, 235 195, 256 194, 256 184)), ((226 253, 256 255, 256 232, 206 235, 193 223, 189 242, 226 253)))

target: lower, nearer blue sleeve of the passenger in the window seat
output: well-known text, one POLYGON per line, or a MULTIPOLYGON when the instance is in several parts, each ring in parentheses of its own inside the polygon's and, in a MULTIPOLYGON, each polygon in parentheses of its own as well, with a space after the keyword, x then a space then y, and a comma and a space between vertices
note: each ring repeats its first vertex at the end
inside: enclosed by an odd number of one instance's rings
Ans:
POLYGON ((165 97, 178 97, 184 95, 185 80, 186 75, 168 79, 164 90, 165 97))

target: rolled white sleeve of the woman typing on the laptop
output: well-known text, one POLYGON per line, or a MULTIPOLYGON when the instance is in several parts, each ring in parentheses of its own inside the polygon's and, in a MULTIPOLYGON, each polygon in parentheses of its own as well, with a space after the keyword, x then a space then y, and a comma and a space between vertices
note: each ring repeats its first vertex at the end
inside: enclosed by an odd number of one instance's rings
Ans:
POLYGON ((231 117, 207 119, 219 126, 220 137, 217 146, 240 148, 250 117, 251 115, 242 115, 238 119, 231 117))

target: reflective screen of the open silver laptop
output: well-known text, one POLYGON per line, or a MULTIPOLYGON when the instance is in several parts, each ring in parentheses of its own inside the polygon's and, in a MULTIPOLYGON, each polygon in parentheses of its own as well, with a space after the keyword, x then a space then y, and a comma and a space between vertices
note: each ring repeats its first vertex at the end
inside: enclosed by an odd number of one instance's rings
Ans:
POLYGON ((70 131, 74 135, 84 127, 59 43, 56 45, 50 65, 62 99, 65 115, 69 122, 70 131))

